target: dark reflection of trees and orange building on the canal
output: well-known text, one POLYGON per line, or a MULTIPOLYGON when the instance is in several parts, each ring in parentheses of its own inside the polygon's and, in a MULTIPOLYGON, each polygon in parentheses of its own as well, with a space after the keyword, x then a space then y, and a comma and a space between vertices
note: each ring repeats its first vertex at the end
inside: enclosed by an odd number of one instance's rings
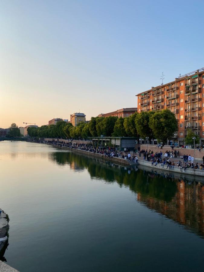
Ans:
POLYGON ((71 152, 50 153, 49 159, 74 171, 87 170, 91 178, 128 186, 143 205, 204 237, 204 186, 193 177, 122 167, 71 152))

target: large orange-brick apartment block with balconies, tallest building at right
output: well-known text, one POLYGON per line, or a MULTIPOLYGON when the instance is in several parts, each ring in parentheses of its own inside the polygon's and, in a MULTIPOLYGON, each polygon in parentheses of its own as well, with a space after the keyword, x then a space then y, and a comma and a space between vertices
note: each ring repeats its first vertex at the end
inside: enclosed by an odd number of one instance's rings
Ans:
POLYGON ((168 108, 178 120, 178 131, 172 142, 182 145, 188 129, 200 136, 204 144, 204 68, 175 78, 174 81, 151 87, 136 95, 138 112, 168 108))

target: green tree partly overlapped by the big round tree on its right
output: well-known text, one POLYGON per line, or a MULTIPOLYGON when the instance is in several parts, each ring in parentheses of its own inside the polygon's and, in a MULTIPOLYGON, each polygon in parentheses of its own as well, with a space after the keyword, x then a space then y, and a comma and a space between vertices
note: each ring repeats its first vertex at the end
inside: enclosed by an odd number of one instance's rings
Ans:
POLYGON ((154 138, 154 133, 152 129, 150 128, 149 122, 152 115, 155 113, 150 112, 141 112, 140 114, 136 115, 135 118, 135 125, 138 134, 141 136, 141 138, 145 139, 146 137, 149 138, 149 141, 154 138))

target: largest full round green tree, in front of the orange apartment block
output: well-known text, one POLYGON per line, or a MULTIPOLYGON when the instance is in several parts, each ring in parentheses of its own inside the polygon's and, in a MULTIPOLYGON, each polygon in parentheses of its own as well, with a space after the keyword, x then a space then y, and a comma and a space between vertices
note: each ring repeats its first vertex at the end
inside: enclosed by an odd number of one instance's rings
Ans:
POLYGON ((155 138, 162 143, 173 137, 178 130, 178 123, 173 112, 168 109, 157 111, 150 117, 149 126, 155 138))

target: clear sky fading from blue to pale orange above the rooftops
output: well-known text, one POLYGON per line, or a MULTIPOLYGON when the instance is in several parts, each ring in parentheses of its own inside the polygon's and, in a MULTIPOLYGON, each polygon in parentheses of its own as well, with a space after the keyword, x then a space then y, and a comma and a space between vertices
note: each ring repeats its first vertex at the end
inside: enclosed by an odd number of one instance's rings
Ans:
POLYGON ((204 2, 0 0, 0 127, 137 107, 204 67, 204 2))

